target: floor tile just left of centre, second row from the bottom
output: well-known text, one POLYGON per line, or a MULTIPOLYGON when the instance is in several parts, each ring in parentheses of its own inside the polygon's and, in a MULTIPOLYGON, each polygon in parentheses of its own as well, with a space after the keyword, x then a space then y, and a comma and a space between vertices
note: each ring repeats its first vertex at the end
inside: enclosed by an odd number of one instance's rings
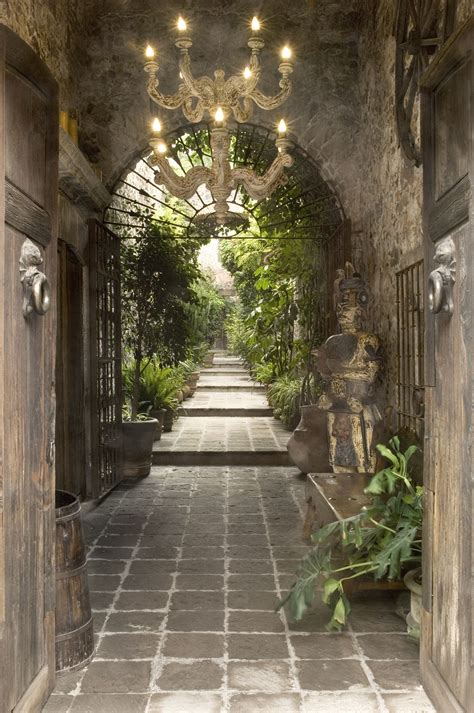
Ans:
POLYGON ((155 681, 161 690, 217 690, 222 685, 224 668, 213 661, 165 663, 155 681))

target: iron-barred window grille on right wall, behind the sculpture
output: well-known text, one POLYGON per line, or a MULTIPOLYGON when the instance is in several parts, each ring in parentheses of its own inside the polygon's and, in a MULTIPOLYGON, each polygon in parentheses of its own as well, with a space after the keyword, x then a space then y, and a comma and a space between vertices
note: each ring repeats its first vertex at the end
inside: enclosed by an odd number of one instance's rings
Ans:
POLYGON ((398 426, 422 435, 424 419, 423 260, 397 272, 398 426))

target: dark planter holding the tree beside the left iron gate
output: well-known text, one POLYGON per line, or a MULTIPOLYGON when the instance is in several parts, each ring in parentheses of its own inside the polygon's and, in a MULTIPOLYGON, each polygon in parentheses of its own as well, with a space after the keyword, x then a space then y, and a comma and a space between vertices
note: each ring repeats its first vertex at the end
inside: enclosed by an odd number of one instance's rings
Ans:
POLYGON ((124 478, 143 478, 149 475, 157 424, 155 418, 122 423, 124 478))

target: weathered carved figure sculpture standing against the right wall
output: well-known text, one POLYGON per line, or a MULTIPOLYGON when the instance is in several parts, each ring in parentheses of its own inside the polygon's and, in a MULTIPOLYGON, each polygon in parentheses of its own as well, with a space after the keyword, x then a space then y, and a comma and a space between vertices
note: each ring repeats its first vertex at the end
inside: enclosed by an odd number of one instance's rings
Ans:
POLYGON ((326 384, 318 407, 327 412, 329 461, 335 473, 375 472, 373 432, 381 414, 374 382, 381 366, 380 342, 364 331, 368 292, 350 263, 338 274, 337 320, 341 329, 319 349, 316 364, 326 384))

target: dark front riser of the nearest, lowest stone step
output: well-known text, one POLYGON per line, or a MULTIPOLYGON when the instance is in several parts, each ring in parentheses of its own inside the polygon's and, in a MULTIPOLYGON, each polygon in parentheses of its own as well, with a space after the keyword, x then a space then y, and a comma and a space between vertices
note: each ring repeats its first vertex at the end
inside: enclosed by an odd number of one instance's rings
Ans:
POLYGON ((288 466, 286 451, 153 451, 153 465, 288 466))

